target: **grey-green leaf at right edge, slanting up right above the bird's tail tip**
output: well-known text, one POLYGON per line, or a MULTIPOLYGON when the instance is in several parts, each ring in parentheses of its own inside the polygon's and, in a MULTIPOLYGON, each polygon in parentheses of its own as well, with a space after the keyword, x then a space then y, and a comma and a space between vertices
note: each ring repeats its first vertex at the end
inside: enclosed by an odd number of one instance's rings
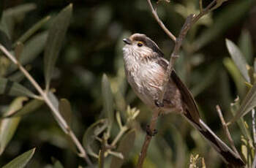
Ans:
POLYGON ((236 122, 239 118, 246 115, 247 112, 251 111, 256 107, 256 84, 248 91, 245 98, 243 99, 239 110, 236 112, 236 115, 229 123, 236 122))

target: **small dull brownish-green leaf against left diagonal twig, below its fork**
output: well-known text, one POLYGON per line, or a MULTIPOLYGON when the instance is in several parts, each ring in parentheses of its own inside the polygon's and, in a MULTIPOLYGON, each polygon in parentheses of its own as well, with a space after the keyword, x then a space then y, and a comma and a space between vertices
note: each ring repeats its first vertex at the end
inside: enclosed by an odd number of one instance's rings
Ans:
POLYGON ((67 121, 67 124, 71 126, 72 110, 71 105, 67 99, 61 99, 59 102, 59 112, 61 112, 61 115, 64 120, 67 121))

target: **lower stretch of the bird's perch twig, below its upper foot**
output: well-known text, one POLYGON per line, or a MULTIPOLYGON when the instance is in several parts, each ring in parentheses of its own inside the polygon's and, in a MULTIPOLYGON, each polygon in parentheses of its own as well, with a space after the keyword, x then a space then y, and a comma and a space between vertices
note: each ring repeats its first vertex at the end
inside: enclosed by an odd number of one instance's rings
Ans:
MULTIPOLYGON (((149 130, 151 132, 153 132, 154 129, 156 128, 157 118, 159 116, 159 112, 160 112, 160 110, 157 110, 157 111, 153 112, 151 122, 150 122, 150 125, 149 125, 149 130)), ((140 156, 139 156, 137 168, 141 168, 143 166, 143 161, 146 158, 146 153, 147 153, 147 150, 148 150, 149 143, 151 142, 151 139, 152 139, 152 136, 149 135, 149 134, 146 134, 146 137, 145 137, 145 140, 144 140, 144 143, 143 143, 143 147, 141 148, 141 151, 140 151, 140 156)))

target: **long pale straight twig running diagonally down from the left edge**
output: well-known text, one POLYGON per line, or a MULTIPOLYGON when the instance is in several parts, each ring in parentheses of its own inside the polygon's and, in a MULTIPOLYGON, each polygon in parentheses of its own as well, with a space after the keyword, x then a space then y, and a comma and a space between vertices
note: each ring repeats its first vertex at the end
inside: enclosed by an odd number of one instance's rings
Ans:
POLYGON ((50 102, 50 99, 48 98, 47 93, 45 93, 42 88, 39 86, 37 81, 34 80, 34 78, 29 74, 29 72, 26 71, 26 69, 17 61, 15 56, 12 56, 12 54, 3 46, 0 44, 0 50, 8 57, 10 60, 18 66, 18 69, 20 69, 20 72, 22 72, 26 78, 31 82, 32 85, 34 85, 34 88, 37 89, 39 94, 42 96, 42 99, 45 101, 46 104, 48 104, 48 107, 50 107, 50 110, 52 110, 53 114, 56 116, 56 118, 59 120, 59 126, 61 126, 61 129, 71 138, 71 140, 74 142, 74 144, 77 146, 80 153, 78 153, 78 156, 85 159, 87 164, 91 164, 91 160, 86 154, 86 150, 83 148, 83 146, 78 141, 78 138, 75 136, 74 132, 69 128, 67 122, 64 120, 64 118, 60 115, 59 110, 56 109, 56 107, 53 105, 52 102, 50 102))

